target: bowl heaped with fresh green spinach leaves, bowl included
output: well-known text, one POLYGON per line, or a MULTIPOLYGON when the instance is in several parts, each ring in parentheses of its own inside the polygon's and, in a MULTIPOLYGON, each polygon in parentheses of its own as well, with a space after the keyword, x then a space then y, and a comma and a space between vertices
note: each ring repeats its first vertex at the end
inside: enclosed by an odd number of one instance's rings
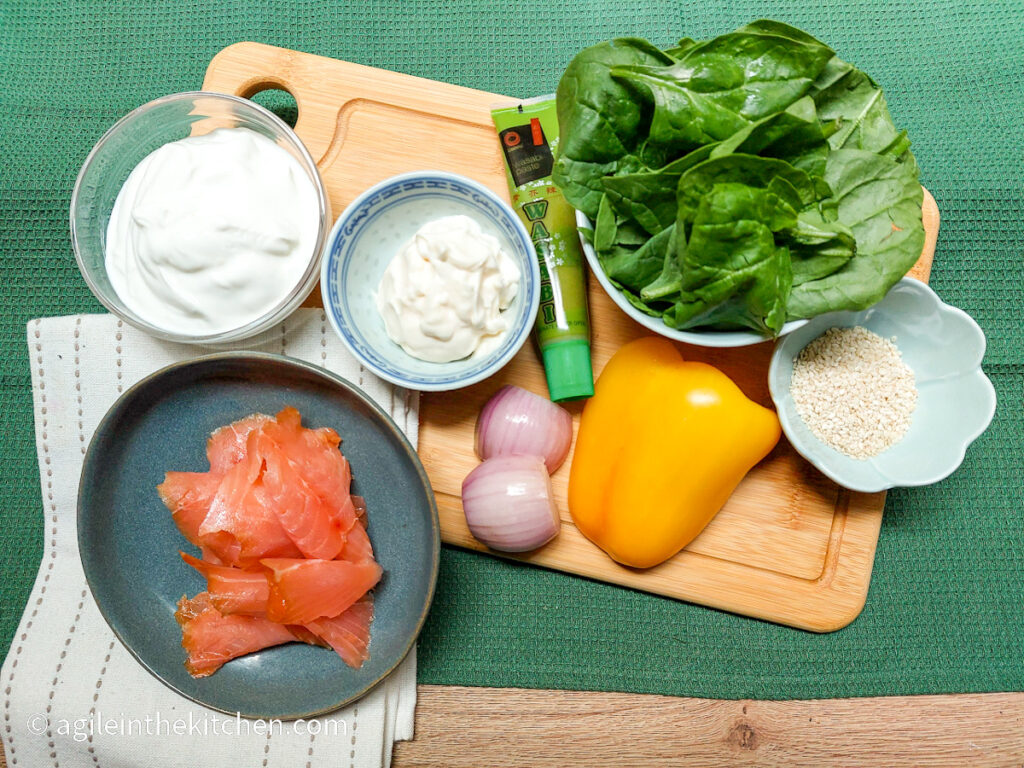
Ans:
POLYGON ((882 89, 787 25, 587 48, 558 120, 591 267, 665 336, 764 341, 870 306, 921 255, 918 165, 882 89))

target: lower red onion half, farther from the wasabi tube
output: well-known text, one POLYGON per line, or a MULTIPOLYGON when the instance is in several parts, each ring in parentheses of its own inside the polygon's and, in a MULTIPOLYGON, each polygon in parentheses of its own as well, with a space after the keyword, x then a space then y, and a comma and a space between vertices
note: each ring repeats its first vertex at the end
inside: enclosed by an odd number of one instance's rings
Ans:
POLYGON ((528 552, 558 535, 551 476, 536 456, 496 456, 462 481, 469 529, 502 552, 528 552))

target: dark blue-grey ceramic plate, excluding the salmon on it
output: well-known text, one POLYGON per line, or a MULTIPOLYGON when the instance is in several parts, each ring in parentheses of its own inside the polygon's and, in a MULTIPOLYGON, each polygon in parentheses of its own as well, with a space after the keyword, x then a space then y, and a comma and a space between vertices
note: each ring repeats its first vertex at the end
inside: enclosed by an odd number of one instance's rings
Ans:
POLYGON ((352 384, 272 354, 224 353, 157 372, 103 417, 85 457, 78 543, 86 580, 111 629, 162 682, 206 707, 294 719, 361 696, 391 672, 423 627, 437 578, 433 492, 413 446, 352 384), (229 662, 208 678, 185 672, 174 621, 183 594, 205 588, 181 562, 194 551, 157 496, 170 469, 203 471, 217 427, 294 406, 309 427, 333 427, 367 499, 370 539, 384 578, 375 590, 370 659, 347 667, 325 648, 290 643, 229 662))

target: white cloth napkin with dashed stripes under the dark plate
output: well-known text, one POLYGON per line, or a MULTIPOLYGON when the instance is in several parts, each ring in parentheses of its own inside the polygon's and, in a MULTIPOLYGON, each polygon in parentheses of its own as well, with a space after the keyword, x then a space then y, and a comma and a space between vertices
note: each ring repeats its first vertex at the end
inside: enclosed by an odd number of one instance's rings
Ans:
MULTIPOLYGON (((45 543, 0 678, 8 765, 389 766, 393 741, 413 737, 415 650, 345 710, 301 723, 236 720, 179 696, 142 669, 114 637, 86 585, 75 500, 96 425, 143 376, 212 350, 154 339, 113 315, 32 321, 28 341, 45 543)), ((300 309, 240 347, 299 357, 348 379, 416 444, 418 395, 364 372, 321 310, 300 309)))

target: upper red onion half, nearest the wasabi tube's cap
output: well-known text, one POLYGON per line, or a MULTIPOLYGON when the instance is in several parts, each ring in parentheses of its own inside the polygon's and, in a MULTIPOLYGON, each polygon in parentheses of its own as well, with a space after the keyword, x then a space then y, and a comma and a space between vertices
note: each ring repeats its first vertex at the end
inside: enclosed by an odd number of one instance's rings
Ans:
POLYGON ((572 442, 572 417, 547 397, 506 385, 487 400, 476 420, 476 453, 494 456, 540 456, 554 472, 572 442))

